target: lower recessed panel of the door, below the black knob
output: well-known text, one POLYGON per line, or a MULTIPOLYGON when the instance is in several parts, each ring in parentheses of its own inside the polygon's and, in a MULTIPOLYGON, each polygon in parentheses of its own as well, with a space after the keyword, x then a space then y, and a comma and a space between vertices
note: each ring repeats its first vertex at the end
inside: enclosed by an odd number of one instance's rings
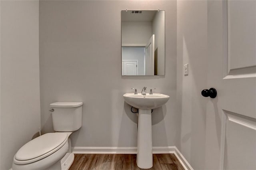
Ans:
POLYGON ((256 121, 250 117, 224 111, 226 119, 224 169, 256 168, 256 121))

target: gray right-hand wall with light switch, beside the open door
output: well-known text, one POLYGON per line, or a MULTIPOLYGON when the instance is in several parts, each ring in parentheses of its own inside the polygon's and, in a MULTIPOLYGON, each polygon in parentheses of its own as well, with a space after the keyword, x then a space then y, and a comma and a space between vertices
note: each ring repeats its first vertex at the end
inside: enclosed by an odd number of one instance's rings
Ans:
MULTIPOLYGON (((177 1, 177 103, 180 143, 177 147, 194 169, 205 167, 207 87, 207 1, 177 1), (183 65, 188 63, 188 76, 183 65)), ((210 146, 211 147, 211 146, 210 146)))

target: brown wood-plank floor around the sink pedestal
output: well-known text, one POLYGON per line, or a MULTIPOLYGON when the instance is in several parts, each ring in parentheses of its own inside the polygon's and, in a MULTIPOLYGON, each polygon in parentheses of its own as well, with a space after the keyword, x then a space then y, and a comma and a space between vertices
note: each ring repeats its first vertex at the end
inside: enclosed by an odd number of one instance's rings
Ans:
MULTIPOLYGON (((136 154, 75 154, 69 170, 140 170, 136 154)), ((174 154, 153 154, 150 170, 184 170, 174 154)))

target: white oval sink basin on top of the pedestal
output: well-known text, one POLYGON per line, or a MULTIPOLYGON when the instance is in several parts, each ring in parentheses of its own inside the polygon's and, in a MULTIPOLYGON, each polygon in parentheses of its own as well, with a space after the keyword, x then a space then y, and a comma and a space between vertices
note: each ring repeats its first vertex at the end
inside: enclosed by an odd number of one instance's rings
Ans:
POLYGON ((146 93, 146 95, 126 93, 123 97, 126 103, 137 109, 155 109, 164 105, 170 98, 170 96, 160 93, 154 93, 152 95, 149 93, 146 93))

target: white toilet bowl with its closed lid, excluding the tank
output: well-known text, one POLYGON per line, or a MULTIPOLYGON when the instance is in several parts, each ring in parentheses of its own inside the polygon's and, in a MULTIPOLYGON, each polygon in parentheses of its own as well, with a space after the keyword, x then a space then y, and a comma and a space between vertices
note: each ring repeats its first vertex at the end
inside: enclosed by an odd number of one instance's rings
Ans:
MULTIPOLYGON (((60 162, 68 152, 68 136, 69 134, 65 132, 46 133, 31 140, 15 154, 12 169, 47 169, 60 162)), ((60 168, 58 169, 61 169, 61 164, 59 165, 60 168)))

